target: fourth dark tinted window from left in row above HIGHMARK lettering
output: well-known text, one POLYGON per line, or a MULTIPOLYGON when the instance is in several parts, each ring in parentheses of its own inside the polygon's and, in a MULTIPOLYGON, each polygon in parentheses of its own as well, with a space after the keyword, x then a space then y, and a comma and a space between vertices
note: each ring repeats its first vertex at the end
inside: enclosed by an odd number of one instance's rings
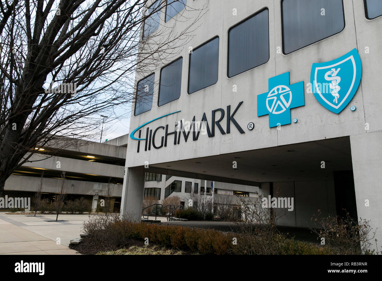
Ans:
POLYGON ((228 77, 269 60, 268 10, 246 19, 228 34, 228 77))

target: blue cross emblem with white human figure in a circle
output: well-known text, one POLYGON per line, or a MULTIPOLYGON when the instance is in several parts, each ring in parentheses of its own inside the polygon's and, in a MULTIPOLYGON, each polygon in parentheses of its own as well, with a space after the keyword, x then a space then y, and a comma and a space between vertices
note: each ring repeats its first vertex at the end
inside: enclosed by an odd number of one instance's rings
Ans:
POLYGON ((269 114, 269 128, 290 124, 290 109, 304 106, 304 81, 289 84, 289 72, 268 79, 269 92, 257 95, 257 116, 269 114))

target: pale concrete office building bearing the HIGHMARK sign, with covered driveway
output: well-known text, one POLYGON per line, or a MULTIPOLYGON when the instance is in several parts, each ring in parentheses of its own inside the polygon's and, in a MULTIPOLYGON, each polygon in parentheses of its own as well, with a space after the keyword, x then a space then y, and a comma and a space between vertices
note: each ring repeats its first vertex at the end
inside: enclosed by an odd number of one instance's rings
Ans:
POLYGON ((121 212, 141 217, 144 175, 153 172, 270 195, 278 188, 295 199, 283 225, 309 227, 318 209, 346 208, 380 229, 381 2, 179 5, 155 13, 145 38, 183 30, 194 9, 206 6, 205 14, 171 60, 136 75, 136 91, 152 100, 133 107, 121 212), (193 120, 204 132, 192 131, 193 120))

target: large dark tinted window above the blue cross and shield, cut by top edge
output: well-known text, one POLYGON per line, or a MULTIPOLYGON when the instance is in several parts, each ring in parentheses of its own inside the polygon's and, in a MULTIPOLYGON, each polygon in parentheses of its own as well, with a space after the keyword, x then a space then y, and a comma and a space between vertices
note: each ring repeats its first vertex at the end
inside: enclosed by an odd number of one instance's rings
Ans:
POLYGON ((313 44, 345 27, 342 0, 283 0, 283 52, 313 44))

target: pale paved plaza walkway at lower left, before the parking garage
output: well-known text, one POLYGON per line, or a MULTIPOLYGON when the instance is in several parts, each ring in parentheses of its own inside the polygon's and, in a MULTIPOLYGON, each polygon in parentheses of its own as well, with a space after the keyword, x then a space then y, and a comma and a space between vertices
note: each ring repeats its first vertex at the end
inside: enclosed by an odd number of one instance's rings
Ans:
POLYGON ((87 215, 29 216, 0 213, 0 255, 76 255, 69 249, 79 238, 87 215), (60 244, 57 244, 60 238, 60 244))

